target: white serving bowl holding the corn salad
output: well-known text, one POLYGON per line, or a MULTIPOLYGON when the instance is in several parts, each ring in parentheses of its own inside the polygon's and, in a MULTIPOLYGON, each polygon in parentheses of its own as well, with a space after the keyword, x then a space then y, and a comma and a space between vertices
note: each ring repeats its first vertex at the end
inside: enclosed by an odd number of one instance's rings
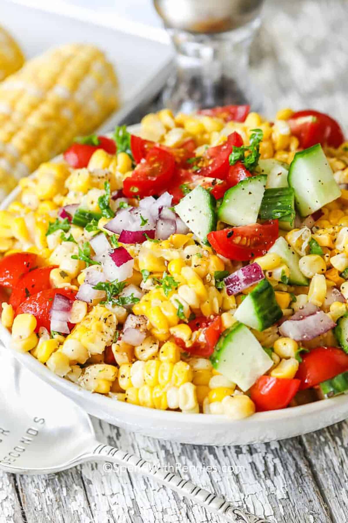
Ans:
MULTIPOLYGON (((139 128, 134 126, 129 129, 136 132, 139 128)), ((4 200, 0 209, 6 209, 19 194, 20 189, 17 187, 4 200)), ((0 324, 0 340, 5 346, 3 350, 11 351, 37 377, 69 396, 92 416, 153 438, 195 445, 246 445, 306 434, 348 417, 348 396, 344 394, 307 405, 260 412, 239 421, 212 414, 183 414, 131 405, 93 394, 56 376, 31 354, 17 353, 11 349, 10 338, 9 331, 0 324)), ((33 386, 34 383, 33 377, 33 386)))

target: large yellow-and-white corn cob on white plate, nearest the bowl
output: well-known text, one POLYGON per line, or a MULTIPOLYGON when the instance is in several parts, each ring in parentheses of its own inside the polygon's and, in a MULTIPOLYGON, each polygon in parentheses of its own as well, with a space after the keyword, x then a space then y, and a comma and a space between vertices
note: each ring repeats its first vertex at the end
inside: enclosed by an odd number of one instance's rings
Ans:
POLYGON ((98 128, 117 97, 113 67, 93 46, 68 44, 27 62, 0 84, 0 191, 98 128))

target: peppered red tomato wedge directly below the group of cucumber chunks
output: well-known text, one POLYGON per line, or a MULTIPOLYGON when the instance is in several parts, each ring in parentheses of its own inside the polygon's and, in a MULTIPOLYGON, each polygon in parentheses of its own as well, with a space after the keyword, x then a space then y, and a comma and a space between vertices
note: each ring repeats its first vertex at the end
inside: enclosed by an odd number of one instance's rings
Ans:
POLYGON ((225 258, 247 261, 263 256, 278 238, 278 220, 245 225, 208 234, 211 246, 225 258), (242 241, 246 239, 246 244, 242 241), (241 245, 242 244, 242 245, 241 245))

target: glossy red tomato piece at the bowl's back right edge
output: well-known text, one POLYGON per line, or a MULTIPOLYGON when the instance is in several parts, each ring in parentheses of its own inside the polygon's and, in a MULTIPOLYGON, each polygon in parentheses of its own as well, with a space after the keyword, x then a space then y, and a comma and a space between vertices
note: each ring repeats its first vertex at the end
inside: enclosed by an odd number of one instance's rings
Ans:
POLYGON ((323 112, 306 109, 295 112, 289 119, 292 134, 302 149, 316 143, 339 147, 344 142, 344 135, 338 122, 323 112))

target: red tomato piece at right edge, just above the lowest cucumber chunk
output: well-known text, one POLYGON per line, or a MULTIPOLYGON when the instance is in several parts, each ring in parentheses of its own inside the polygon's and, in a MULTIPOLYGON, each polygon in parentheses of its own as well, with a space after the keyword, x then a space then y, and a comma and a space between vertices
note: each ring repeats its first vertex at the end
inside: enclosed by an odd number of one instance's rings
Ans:
POLYGON ((317 347, 302 355, 295 378, 300 389, 309 389, 348 370, 348 354, 337 347, 317 347))

